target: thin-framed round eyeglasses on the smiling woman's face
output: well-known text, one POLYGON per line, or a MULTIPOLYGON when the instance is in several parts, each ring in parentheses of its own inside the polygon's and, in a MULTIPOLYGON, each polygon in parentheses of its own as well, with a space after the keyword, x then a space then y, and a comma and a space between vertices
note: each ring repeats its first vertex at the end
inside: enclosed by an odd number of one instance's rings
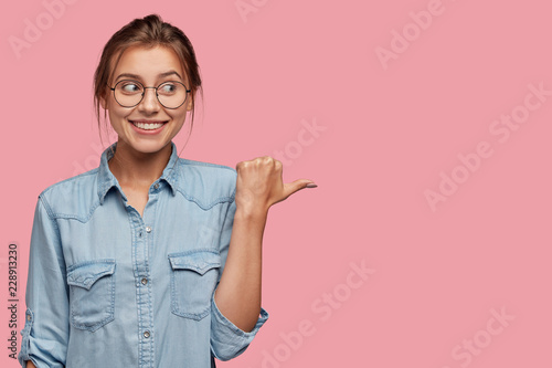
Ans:
POLYGON ((179 108, 182 106, 191 92, 185 85, 178 81, 163 82, 157 87, 145 87, 138 81, 123 80, 109 87, 115 101, 123 107, 135 107, 144 99, 147 88, 156 90, 157 99, 167 108, 179 108))

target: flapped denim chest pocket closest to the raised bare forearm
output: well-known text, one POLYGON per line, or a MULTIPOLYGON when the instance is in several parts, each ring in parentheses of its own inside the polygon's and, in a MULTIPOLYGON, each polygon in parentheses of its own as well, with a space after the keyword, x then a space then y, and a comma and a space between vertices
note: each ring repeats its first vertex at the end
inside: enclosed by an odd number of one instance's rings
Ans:
POLYGON ((211 308, 221 256, 216 251, 197 250, 169 254, 171 265, 171 312, 200 320, 211 308))

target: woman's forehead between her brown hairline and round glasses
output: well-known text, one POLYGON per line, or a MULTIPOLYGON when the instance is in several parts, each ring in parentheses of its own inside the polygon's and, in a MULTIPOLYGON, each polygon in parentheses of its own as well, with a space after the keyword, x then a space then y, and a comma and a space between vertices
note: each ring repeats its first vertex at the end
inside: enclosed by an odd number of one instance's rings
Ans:
MULTIPOLYGON (((116 57, 115 61, 116 62, 116 57)), ((153 83, 159 74, 170 71, 177 72, 185 81, 184 71, 177 53, 164 46, 147 49, 145 46, 130 46, 123 52, 113 73, 113 80, 123 73, 136 74, 144 82, 153 83)), ((179 78, 177 75, 172 75, 179 78)))

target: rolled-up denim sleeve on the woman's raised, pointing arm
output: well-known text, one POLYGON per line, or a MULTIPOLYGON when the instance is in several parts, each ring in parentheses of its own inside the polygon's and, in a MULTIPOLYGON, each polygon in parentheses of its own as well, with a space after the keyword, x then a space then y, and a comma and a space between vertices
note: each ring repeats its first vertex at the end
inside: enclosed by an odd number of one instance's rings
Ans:
MULTIPOLYGON (((232 234, 232 227, 234 224, 235 211, 236 204, 235 201, 232 201, 232 203, 229 206, 229 211, 226 213, 226 219, 224 220, 221 235, 220 252, 222 256, 222 265, 226 263, 226 256, 229 254, 230 239, 232 234)), ((220 276, 222 275, 223 269, 224 266, 221 267, 220 276)), ((223 361, 235 358, 244 353, 257 334, 258 329, 264 325, 266 319, 268 319, 268 313, 264 308, 261 308, 261 315, 253 330, 248 333, 244 332, 235 326, 221 313, 221 311, 216 306, 216 303, 214 302, 214 293, 211 297, 211 351, 216 359, 223 361)))

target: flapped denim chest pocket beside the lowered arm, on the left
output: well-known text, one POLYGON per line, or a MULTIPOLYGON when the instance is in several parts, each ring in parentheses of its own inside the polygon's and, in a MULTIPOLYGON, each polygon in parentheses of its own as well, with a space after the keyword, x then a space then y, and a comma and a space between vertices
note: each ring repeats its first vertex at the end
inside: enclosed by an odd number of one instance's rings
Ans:
POLYGON ((84 262, 67 269, 71 325, 95 332, 115 316, 115 260, 84 262))

